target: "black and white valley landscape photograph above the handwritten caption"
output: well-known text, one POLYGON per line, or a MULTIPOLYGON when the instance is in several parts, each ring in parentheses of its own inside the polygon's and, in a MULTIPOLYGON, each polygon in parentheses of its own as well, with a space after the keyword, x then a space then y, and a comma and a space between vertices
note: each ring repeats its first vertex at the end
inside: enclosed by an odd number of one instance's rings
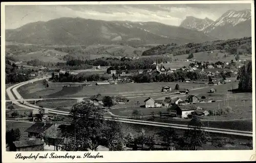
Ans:
POLYGON ((4 150, 255 151, 254 7, 217 2, 1 5, 4 150))

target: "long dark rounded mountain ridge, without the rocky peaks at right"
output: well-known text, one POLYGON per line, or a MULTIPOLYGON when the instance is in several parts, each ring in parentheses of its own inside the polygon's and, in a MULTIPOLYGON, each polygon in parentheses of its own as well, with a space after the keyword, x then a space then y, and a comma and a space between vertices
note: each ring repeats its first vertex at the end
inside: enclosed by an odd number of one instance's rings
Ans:
POLYGON ((62 17, 6 30, 6 41, 30 44, 166 44, 216 40, 200 31, 158 22, 103 21, 62 17))

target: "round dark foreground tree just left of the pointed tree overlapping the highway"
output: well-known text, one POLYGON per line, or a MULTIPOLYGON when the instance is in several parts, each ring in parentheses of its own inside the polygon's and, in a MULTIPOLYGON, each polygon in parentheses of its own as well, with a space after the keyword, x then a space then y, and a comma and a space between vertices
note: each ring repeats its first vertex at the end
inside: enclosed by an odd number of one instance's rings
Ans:
POLYGON ((158 135, 169 148, 178 144, 178 136, 173 128, 163 129, 158 135))

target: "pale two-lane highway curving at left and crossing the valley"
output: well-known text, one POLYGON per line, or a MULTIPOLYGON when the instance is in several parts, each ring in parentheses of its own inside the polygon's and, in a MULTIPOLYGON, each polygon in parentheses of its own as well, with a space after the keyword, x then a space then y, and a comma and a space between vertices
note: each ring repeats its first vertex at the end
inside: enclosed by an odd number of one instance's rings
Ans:
MULTIPOLYGON (((7 95, 9 96, 9 98, 11 100, 15 100, 16 98, 14 97, 13 94, 15 94, 15 96, 19 99, 22 99, 22 96, 17 92, 17 88, 20 86, 24 86, 30 82, 35 82, 37 80, 41 80, 41 79, 45 79, 48 77, 44 77, 44 78, 37 78, 37 79, 33 79, 33 80, 29 80, 27 82, 23 82, 17 85, 14 85, 12 87, 9 87, 6 92, 7 95), (13 94, 11 92, 11 89, 13 91, 13 94)), ((38 109, 39 107, 36 105, 32 105, 29 104, 27 102, 25 102, 25 105, 19 104, 19 102, 16 102, 16 104, 20 107, 25 107, 31 110, 35 110, 38 109)), ((64 111, 56 111, 50 108, 45 108, 47 110, 49 110, 49 113, 52 114, 59 114, 59 115, 70 115, 69 112, 64 112, 64 111)), ((113 118, 113 117, 104 117, 105 120, 116 120, 119 122, 123 122, 123 123, 132 123, 132 124, 142 124, 142 125, 151 125, 151 126, 160 126, 160 127, 172 127, 172 128, 178 128, 178 129, 189 129, 187 127, 187 125, 180 125, 180 124, 172 124, 172 123, 160 123, 160 122, 150 122, 150 121, 142 121, 142 120, 132 120, 132 119, 123 119, 123 118, 113 118)), ((221 128, 209 128, 209 127, 204 127, 205 131, 207 132, 215 132, 215 133, 225 133, 225 134, 233 134, 233 135, 243 135, 246 137, 252 137, 252 132, 250 131, 240 131, 240 130, 231 130, 231 129, 221 129, 221 128)))

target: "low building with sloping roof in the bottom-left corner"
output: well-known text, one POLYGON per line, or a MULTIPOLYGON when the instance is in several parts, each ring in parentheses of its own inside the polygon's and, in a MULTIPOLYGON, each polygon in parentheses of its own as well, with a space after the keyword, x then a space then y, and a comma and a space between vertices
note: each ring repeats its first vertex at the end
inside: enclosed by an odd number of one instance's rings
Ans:
POLYGON ((44 142, 40 139, 15 141, 10 151, 44 151, 44 142))

